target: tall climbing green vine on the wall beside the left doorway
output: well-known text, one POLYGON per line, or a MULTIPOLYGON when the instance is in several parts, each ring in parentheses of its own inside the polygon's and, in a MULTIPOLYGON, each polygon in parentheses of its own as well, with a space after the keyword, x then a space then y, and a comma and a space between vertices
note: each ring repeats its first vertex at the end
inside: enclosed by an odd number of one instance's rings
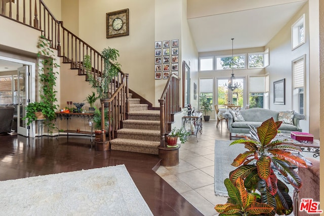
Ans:
POLYGON ((37 57, 42 58, 43 60, 38 65, 39 67, 39 84, 42 90, 40 92, 41 101, 36 103, 29 103, 26 107, 27 113, 23 119, 27 119, 27 125, 29 125, 33 120, 35 120, 34 114, 30 112, 34 112, 34 110, 42 110, 43 114, 46 117, 45 124, 52 132, 52 129, 55 129, 55 110, 58 109, 55 90, 56 87, 56 75, 58 74, 55 69, 59 68, 60 65, 55 63, 56 58, 54 55, 54 51, 50 48, 51 41, 45 38, 43 35, 38 39, 38 53, 37 57))

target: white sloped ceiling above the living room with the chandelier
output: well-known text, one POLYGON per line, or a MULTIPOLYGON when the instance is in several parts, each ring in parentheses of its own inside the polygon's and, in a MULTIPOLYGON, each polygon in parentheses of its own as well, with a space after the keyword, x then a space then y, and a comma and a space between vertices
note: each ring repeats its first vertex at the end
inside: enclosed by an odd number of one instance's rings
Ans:
POLYGON ((264 47, 306 2, 188 0, 188 24, 198 52, 264 47))

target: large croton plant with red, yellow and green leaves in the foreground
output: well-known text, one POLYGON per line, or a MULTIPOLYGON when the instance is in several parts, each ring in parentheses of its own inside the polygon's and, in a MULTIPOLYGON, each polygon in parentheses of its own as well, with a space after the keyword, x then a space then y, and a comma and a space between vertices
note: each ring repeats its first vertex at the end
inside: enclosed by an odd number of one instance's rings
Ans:
MULTIPOLYGON (((275 215, 275 213, 288 215, 293 211, 293 201, 288 194, 289 189, 279 180, 280 175, 298 191, 302 181, 294 168, 311 165, 310 161, 298 154, 301 151, 299 147, 274 139, 281 123, 281 121, 274 122, 271 117, 258 128, 250 126, 251 137, 246 136, 245 139, 236 140, 230 144, 241 143, 248 149, 239 154, 231 164, 237 168, 230 172, 230 182, 238 187, 237 181, 241 179, 244 182, 245 193, 258 191, 260 199, 257 199, 257 202, 273 207, 267 215, 275 215)), ((232 191, 229 191, 227 187, 228 181, 225 182, 225 186, 231 194, 232 191)), ((228 200, 228 203, 233 202, 228 200)), ((224 205, 216 205, 215 209, 222 214, 231 214, 231 209, 224 207, 224 205)))

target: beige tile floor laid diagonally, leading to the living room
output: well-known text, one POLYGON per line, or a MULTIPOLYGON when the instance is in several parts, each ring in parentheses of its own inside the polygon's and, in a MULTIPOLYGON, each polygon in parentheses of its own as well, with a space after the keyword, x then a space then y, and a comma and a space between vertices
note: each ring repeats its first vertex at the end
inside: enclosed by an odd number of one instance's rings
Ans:
MULTIPOLYGON (((214 145, 215 140, 229 140, 226 124, 216 127, 216 121, 203 121, 203 133, 190 137, 179 150, 177 166, 160 166, 156 173, 177 190, 204 215, 218 215, 216 204, 224 204, 227 197, 214 193, 214 145)), ((312 153, 303 152, 305 157, 312 153)), ((317 157, 316 159, 319 159, 317 157)))

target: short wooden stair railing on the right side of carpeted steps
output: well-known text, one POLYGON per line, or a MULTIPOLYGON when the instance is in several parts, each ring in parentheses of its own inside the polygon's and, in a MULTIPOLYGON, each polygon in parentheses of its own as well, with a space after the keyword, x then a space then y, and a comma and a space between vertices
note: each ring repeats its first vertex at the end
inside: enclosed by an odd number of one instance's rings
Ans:
POLYGON ((160 147, 167 147, 166 136, 171 131, 171 125, 174 121, 174 114, 181 112, 180 78, 177 75, 171 74, 158 102, 160 103, 161 125, 160 147))

